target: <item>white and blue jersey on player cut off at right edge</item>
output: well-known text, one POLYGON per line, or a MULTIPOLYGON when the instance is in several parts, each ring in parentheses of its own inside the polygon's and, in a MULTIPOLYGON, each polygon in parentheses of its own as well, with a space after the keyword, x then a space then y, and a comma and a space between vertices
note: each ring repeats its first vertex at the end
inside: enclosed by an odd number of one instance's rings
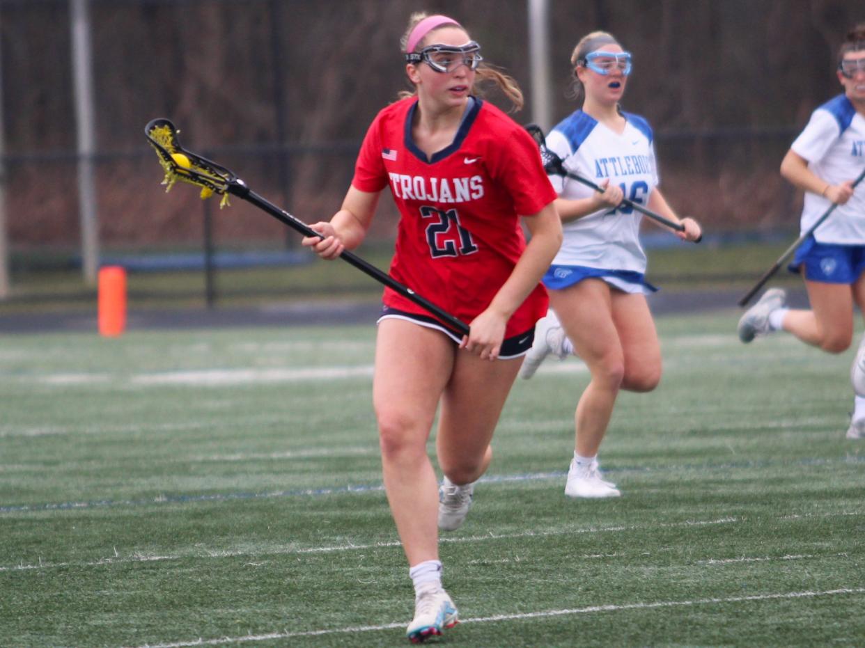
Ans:
MULTIPOLYGON (((811 120, 790 148, 808 161, 814 175, 830 184, 855 180, 865 169, 865 117, 846 95, 839 94, 811 113, 811 120)), ((830 206, 828 198, 806 192, 801 231, 813 226, 830 206)), ((814 238, 818 243, 865 245, 865 181, 817 227, 814 238)))

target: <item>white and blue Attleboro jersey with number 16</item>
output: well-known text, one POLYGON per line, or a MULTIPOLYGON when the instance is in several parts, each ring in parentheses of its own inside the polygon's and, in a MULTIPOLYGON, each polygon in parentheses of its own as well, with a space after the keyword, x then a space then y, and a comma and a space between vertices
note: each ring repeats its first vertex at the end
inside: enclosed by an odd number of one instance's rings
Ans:
MULTIPOLYGON (((585 112, 573 112, 549 132, 547 146, 568 171, 596 185, 609 179, 622 188, 625 198, 645 206, 658 182, 652 130, 638 115, 625 113, 625 119, 625 130, 619 135, 585 112)), ((595 193, 571 178, 549 178, 561 198, 574 200, 595 193)), ((646 256, 639 241, 642 219, 632 207, 620 206, 563 223, 565 239, 553 264, 645 272, 646 256)))

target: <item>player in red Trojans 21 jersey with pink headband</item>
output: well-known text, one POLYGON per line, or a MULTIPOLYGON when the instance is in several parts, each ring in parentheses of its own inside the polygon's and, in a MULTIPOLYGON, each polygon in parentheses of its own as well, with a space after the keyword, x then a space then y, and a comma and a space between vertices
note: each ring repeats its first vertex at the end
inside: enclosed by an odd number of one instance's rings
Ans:
POLYGON ((457 622, 441 585, 437 525, 462 524, 472 483, 490 464, 493 429, 547 309, 540 280, 561 225, 531 137, 472 95, 476 79, 491 79, 519 107, 513 79, 484 67, 477 43, 446 16, 413 16, 402 47, 414 92, 375 118, 342 208, 312 226, 324 238, 304 245, 327 259, 355 248, 390 187, 400 209, 391 275, 471 324, 471 334, 454 334, 385 290, 373 400, 384 486, 415 589, 407 634, 417 642, 457 622), (439 406, 437 497, 426 441, 439 406))

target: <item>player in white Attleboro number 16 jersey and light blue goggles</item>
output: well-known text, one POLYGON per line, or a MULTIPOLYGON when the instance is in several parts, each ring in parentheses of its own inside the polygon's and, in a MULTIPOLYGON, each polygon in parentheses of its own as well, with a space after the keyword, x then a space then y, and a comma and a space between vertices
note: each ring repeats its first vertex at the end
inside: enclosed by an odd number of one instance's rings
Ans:
POLYGON ((677 235, 701 236, 693 219, 678 219, 657 190, 652 131, 644 118, 621 111, 631 54, 612 35, 593 32, 571 55, 574 94, 582 110, 550 131, 547 146, 568 171, 592 179, 603 194, 551 176, 565 241, 543 278, 552 309, 535 329, 522 378, 530 378, 549 353, 577 353, 591 380, 574 416, 576 443, 565 494, 618 497, 602 478, 598 449, 620 389, 651 391, 661 378, 661 353, 645 295, 646 257, 638 238, 641 216, 622 199, 647 206, 684 227, 677 235))

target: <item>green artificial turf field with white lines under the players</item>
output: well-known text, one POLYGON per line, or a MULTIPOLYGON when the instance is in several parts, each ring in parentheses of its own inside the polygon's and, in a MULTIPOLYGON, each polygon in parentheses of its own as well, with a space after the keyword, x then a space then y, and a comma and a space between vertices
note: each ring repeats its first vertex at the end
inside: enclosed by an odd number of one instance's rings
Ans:
MULTIPOLYGON (((517 381, 430 643, 865 644, 854 350, 743 346, 738 315, 658 318, 662 384, 600 457, 620 499, 563 494, 580 361, 517 381)), ((0 645, 406 645, 374 335, 0 338, 0 645)))

